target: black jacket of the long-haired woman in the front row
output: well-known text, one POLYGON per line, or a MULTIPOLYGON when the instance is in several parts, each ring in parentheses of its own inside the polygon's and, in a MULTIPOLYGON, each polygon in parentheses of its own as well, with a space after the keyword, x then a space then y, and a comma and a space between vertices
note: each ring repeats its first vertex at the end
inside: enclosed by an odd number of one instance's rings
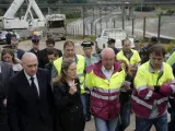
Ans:
POLYGON ((69 94, 68 83, 55 83, 54 96, 58 112, 58 131, 84 131, 83 107, 80 96, 80 82, 75 80, 78 92, 69 94))

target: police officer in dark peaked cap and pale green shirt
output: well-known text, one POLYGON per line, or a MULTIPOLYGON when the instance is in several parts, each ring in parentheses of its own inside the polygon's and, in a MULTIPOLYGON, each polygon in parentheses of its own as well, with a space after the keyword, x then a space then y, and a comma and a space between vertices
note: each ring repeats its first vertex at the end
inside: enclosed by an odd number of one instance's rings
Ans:
MULTIPOLYGON (((89 68, 90 66, 94 64, 95 62, 100 61, 100 56, 97 53, 92 53, 94 44, 92 41, 83 41, 81 44, 84 51, 84 58, 85 58, 85 67, 89 68)), ((85 94, 85 104, 86 104, 86 121, 91 120, 91 112, 90 112, 90 93, 86 92, 85 94)))

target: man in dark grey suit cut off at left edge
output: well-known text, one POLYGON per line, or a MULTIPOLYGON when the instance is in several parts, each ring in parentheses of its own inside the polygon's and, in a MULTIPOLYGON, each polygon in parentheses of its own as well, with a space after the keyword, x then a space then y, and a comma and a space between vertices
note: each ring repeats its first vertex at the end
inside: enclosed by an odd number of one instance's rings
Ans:
POLYGON ((0 61, 0 130, 8 131, 7 121, 7 95, 9 91, 9 80, 13 75, 12 66, 0 61))

